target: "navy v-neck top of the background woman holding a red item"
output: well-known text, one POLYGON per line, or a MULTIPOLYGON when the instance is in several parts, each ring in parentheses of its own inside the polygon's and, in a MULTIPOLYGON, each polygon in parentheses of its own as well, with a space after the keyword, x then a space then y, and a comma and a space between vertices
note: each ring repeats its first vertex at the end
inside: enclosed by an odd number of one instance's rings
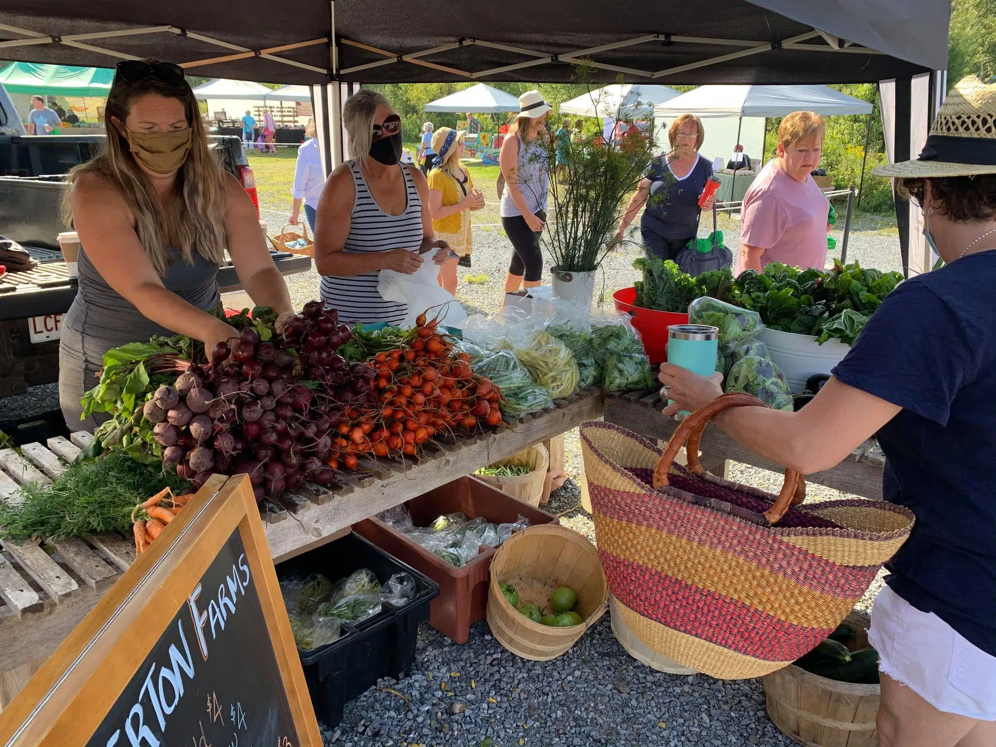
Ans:
POLYGON ((650 180, 650 194, 639 226, 665 239, 687 239, 698 233, 698 216, 702 212, 698 197, 712 176, 712 164, 698 156, 683 179, 678 179, 667 165, 666 155, 656 155, 643 169, 650 180))

